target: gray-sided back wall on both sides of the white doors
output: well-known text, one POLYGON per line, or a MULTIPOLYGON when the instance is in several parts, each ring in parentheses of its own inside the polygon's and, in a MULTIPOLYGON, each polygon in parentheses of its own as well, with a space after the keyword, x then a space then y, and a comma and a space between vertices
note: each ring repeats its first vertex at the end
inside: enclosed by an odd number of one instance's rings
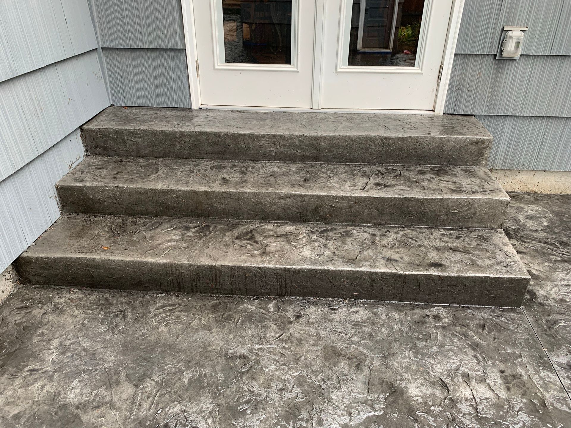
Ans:
MULTIPOLYGON (((190 107, 180 0, 90 0, 111 100, 190 107)), ((445 112, 496 141, 490 168, 569 171, 571 0, 466 0, 445 112), (524 55, 496 60, 501 28, 526 25, 524 55)))

